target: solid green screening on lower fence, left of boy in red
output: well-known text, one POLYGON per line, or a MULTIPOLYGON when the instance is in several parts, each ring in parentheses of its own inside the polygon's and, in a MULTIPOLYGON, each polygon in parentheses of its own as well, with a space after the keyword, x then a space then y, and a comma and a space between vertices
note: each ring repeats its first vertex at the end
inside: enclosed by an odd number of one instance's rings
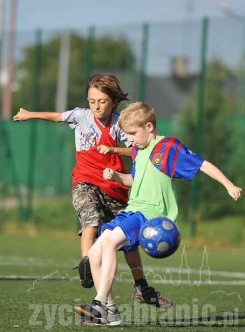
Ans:
MULTIPOLYGON (((171 125, 171 120, 160 121, 159 132, 170 135, 171 125)), ((6 121, 2 139, 5 141, 0 150, 3 162, 0 175, 5 196, 15 195, 16 186, 21 193, 27 194, 31 170, 34 170, 36 196, 57 196, 69 192, 71 171, 75 166, 75 138, 68 125, 36 120, 6 121), (35 153, 31 149, 34 121, 37 131, 35 153)))

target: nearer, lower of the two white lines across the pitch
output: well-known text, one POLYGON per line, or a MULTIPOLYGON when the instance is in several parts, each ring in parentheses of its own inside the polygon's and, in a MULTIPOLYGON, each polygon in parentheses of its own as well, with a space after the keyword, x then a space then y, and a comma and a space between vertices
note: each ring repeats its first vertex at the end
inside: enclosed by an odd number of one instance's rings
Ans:
MULTIPOLYGON (((67 277, 67 276, 25 276, 25 275, 6 275, 6 276, 0 276, 0 280, 36 280, 36 281, 45 281, 45 280, 79 280, 78 277, 67 277)), ((152 279, 150 280, 151 283, 156 284, 167 284, 167 285, 223 285, 223 286, 244 286, 245 280, 229 280, 229 281, 223 281, 223 280, 194 280, 193 282, 190 282, 189 280, 159 280, 159 279, 152 279)), ((127 282, 127 283, 133 283, 133 279, 121 279, 120 282, 127 282)))

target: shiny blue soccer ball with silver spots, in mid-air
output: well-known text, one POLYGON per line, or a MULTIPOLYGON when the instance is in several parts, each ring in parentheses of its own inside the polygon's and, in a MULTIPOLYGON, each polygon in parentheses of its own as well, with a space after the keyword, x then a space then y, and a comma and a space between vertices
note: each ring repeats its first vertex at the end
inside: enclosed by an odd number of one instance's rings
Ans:
POLYGON ((139 243, 143 251, 155 258, 173 254, 180 245, 180 238, 178 226, 165 217, 149 220, 139 232, 139 243))

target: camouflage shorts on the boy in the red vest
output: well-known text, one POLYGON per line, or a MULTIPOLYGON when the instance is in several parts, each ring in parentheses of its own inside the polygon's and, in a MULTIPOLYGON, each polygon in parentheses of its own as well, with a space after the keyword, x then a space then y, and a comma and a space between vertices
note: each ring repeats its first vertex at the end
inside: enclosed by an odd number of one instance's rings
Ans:
POLYGON ((127 206, 86 182, 80 182, 72 189, 72 203, 81 223, 79 235, 85 228, 99 227, 111 222, 115 215, 127 206))

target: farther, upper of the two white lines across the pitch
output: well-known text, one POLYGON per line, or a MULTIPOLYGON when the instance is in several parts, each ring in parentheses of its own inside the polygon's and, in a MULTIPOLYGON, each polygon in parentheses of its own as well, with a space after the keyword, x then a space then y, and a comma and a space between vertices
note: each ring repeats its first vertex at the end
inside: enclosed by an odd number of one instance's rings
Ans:
MULTIPOLYGON (((0 265, 2 266, 13 266, 13 267, 40 267, 40 268, 68 268, 72 269, 77 262, 61 263, 54 259, 42 259, 34 257, 17 257, 17 256, 0 256, 0 265)), ((129 267, 126 263, 118 263, 118 270, 128 271, 129 267)), ((214 271, 200 269, 188 269, 188 268, 176 268, 176 267, 159 267, 157 265, 144 265, 144 271, 148 274, 153 273, 177 273, 177 274, 187 274, 187 275, 206 275, 206 276, 218 276, 218 277, 228 277, 228 278, 245 278, 244 272, 229 272, 229 271, 214 271)))

